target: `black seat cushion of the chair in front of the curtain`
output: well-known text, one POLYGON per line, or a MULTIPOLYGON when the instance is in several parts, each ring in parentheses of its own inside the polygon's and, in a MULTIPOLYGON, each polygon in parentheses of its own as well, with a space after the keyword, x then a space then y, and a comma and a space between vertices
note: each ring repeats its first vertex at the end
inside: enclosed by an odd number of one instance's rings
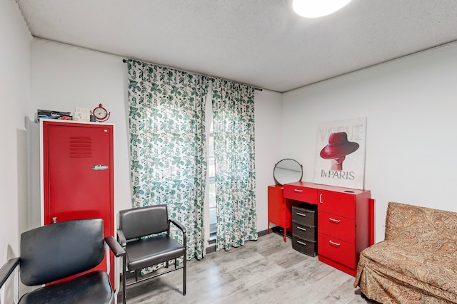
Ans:
POLYGON ((179 258, 185 253, 186 248, 168 235, 141 239, 129 244, 128 251, 126 251, 127 267, 129 269, 146 268, 179 258))

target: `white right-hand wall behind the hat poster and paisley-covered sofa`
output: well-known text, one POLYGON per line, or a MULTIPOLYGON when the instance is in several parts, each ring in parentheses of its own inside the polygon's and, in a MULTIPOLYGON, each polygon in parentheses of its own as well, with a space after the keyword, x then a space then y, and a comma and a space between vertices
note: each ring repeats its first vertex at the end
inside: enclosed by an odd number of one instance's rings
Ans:
POLYGON ((376 241, 388 201, 457 211, 457 43, 283 94, 283 155, 313 182, 319 122, 367 117, 376 241))

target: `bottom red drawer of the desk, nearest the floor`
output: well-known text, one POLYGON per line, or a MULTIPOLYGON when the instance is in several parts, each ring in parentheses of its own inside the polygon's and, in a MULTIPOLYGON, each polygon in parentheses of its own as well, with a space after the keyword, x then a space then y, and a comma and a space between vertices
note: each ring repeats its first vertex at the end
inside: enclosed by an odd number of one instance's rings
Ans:
POLYGON ((356 246, 318 233, 318 253, 349 268, 356 268, 356 246))

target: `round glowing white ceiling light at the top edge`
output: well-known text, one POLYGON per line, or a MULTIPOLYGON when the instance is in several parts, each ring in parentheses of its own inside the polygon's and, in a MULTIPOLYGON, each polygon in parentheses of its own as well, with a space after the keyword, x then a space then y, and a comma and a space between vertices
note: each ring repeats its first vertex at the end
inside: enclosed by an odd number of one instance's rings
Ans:
POLYGON ((342 9, 351 0, 293 0, 296 14, 306 18, 318 18, 342 9))

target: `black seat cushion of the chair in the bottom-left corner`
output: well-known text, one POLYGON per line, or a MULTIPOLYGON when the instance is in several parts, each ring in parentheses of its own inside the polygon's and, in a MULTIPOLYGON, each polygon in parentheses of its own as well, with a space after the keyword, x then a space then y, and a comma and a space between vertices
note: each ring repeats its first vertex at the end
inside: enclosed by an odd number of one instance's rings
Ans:
POLYGON ((19 304, 114 303, 110 285, 105 271, 94 271, 26 293, 19 304))

